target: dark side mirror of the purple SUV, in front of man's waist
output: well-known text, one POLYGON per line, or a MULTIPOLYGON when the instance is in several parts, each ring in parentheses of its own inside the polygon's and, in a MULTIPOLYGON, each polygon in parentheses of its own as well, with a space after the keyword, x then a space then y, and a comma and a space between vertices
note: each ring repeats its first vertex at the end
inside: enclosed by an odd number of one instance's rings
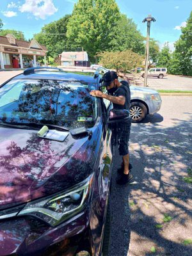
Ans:
POLYGON ((131 119, 129 110, 127 109, 111 109, 109 111, 108 124, 116 122, 126 122, 131 119))

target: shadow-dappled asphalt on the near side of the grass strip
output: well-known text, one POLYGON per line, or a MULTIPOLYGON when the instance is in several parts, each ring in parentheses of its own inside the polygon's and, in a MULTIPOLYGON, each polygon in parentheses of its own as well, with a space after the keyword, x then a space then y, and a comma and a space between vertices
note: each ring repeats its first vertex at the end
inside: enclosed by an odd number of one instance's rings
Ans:
POLYGON ((111 188, 110 256, 192 255, 192 97, 162 97, 159 113, 132 124, 134 182, 111 188))

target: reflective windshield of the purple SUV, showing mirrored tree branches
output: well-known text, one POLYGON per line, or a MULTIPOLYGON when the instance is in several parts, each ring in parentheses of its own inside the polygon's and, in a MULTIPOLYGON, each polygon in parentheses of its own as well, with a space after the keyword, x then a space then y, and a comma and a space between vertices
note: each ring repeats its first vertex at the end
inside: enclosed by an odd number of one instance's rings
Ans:
POLYGON ((95 89, 76 81, 12 80, 0 88, 0 122, 90 128, 97 117, 95 89))

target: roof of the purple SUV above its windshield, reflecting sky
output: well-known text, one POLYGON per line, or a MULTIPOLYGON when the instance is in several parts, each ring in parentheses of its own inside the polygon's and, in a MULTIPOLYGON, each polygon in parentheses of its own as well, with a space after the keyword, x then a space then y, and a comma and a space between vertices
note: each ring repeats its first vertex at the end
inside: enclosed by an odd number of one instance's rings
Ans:
POLYGON ((81 81, 84 83, 97 83, 98 77, 86 76, 85 74, 76 74, 68 72, 49 72, 40 71, 33 74, 19 74, 12 79, 44 79, 44 80, 63 80, 63 81, 81 81))

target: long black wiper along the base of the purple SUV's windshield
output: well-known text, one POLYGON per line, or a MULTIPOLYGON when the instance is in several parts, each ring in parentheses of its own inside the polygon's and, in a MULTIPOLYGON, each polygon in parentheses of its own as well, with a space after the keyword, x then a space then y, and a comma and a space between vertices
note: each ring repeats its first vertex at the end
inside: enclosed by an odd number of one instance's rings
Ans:
POLYGON ((19 129, 31 129, 31 127, 35 130, 38 130, 42 128, 44 125, 47 125, 49 128, 54 128, 62 131, 69 131, 68 128, 65 128, 60 125, 54 125, 54 124, 36 124, 36 123, 17 123, 17 122, 0 122, 0 125, 6 126, 6 127, 13 127, 13 128, 19 128, 19 129))

